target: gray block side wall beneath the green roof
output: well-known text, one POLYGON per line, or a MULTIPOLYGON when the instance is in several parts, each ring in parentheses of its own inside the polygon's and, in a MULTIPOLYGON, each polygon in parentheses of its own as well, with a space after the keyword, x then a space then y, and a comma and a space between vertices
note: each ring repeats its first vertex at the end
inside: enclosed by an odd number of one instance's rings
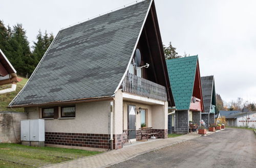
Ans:
POLYGON ((177 110, 175 116, 175 133, 188 133, 188 110, 177 110))

